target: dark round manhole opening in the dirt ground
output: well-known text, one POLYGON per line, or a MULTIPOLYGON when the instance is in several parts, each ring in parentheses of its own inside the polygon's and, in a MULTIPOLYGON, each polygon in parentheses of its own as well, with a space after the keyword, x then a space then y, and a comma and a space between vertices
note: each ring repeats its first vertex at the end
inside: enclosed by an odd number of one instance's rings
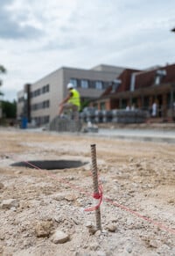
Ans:
POLYGON ((17 162, 12 164, 11 166, 55 170, 55 169, 78 168, 87 164, 88 164, 87 162, 81 162, 77 160, 35 160, 35 161, 17 162))

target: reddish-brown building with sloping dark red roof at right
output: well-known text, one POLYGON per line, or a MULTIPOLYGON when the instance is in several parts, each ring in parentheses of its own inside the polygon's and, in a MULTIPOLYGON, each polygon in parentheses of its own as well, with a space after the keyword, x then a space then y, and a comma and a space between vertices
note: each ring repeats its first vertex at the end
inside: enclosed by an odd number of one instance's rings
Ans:
POLYGON ((116 83, 111 83, 98 100, 91 102, 98 110, 135 107, 156 117, 175 121, 175 64, 146 70, 124 69, 116 83))

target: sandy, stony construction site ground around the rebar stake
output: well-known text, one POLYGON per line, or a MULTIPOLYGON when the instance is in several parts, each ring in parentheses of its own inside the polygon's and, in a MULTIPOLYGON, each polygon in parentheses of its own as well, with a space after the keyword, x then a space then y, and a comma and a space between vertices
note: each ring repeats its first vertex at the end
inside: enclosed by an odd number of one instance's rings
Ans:
POLYGON ((0 163, 0 255, 175 255, 174 143, 1 128, 0 163))

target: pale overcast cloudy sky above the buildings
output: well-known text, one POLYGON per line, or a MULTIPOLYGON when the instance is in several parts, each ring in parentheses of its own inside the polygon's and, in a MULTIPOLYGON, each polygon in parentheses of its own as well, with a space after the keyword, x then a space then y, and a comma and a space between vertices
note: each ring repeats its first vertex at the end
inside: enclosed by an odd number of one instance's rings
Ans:
POLYGON ((0 0, 4 99, 62 66, 175 62, 175 0, 0 0))

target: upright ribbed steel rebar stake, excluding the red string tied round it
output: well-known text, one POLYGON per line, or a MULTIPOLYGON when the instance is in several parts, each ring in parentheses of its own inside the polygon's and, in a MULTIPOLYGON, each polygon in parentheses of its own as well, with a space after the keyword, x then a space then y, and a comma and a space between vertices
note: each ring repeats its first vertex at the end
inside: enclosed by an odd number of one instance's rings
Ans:
MULTIPOLYGON (((92 174, 93 174, 94 194, 99 194, 95 144, 91 145, 91 157, 92 157, 92 174)), ((102 230, 100 206, 99 206, 99 208, 95 209, 95 217, 96 217, 96 229, 102 230)))

